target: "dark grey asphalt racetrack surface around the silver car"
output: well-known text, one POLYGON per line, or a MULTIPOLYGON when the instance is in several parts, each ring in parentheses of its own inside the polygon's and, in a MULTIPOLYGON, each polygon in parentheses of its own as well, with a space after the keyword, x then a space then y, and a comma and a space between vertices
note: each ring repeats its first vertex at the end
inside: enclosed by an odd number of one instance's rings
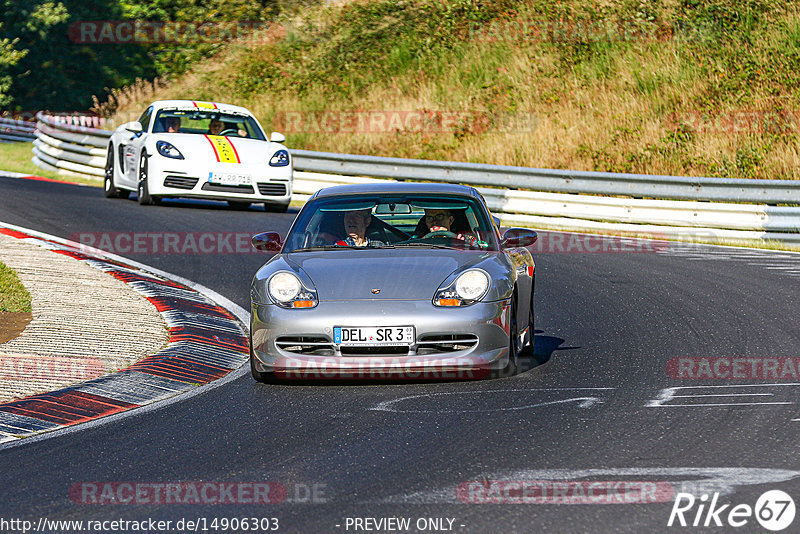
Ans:
MULTIPOLYGON (((285 232, 293 217, 200 202, 143 207, 105 199, 96 188, 0 178, 0 221, 62 237, 285 232)), ((550 244, 563 238, 540 236, 550 244)), ((726 521, 734 505, 754 506, 767 490, 800 498, 800 380, 667 372, 674 358, 800 356, 800 256, 645 248, 534 253, 536 350, 518 376, 324 386, 244 376, 163 409, 0 451, 0 519, 206 518, 208 531, 213 518, 275 517, 282 532, 661 532, 674 530, 667 527, 671 497, 684 491, 709 500, 720 493, 718 503, 729 505, 719 516, 724 526, 708 530, 723 532, 732 530, 726 521), (668 498, 640 492, 637 502, 634 492, 627 503, 514 503, 518 494, 507 492, 504 503, 474 502, 502 497, 498 480, 504 487, 559 480, 575 500, 592 481, 652 483, 646 487, 666 488, 668 498), (74 484, 93 481, 273 481, 292 502, 70 499, 74 484), (465 484, 471 492, 459 493, 465 484), (309 490, 316 498, 307 498, 309 490), (409 529, 355 522, 388 517, 409 518, 409 529), (417 524, 430 518, 443 518, 444 528, 417 524)), ((125 255, 246 309, 250 279, 265 259, 125 255)), ((697 511, 686 512, 690 524, 697 511)), ((766 532, 754 517, 738 530, 766 532)), ((800 531, 800 518, 786 531, 800 531)))

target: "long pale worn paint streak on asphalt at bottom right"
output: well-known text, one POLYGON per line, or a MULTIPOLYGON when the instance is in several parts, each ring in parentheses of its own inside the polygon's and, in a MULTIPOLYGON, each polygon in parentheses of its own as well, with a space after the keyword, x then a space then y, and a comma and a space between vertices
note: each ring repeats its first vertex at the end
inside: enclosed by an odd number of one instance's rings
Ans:
MULTIPOLYGON (((504 470, 473 477, 491 481, 581 481, 597 480, 608 477, 626 477, 647 482, 669 482, 674 492, 691 493, 693 495, 713 494, 730 495, 742 486, 775 485, 800 477, 800 471, 788 469, 769 469, 753 467, 611 467, 599 469, 524 469, 504 470), (654 480, 655 479, 655 480, 654 480)), ((379 501, 367 503, 403 503, 403 504, 460 504, 456 488, 463 481, 453 482, 450 486, 437 487, 407 494, 393 495, 379 501)), ((638 503, 648 504, 648 503, 638 503)))

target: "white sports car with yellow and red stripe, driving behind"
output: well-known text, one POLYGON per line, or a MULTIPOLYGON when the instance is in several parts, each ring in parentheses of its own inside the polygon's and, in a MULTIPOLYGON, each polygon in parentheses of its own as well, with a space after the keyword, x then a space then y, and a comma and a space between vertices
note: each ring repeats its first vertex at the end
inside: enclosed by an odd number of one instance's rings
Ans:
POLYGON ((105 194, 139 204, 163 197, 226 200, 247 208, 286 211, 292 195, 292 157, 286 137, 269 139, 239 106, 193 100, 153 102, 138 121, 117 128, 108 143, 105 194))

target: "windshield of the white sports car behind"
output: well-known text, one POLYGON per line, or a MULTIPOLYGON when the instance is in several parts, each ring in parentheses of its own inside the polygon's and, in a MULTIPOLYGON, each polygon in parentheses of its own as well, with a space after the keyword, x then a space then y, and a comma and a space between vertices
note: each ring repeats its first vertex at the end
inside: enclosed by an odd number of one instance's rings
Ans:
POLYGON ((216 109, 162 109, 156 115, 153 133, 194 133, 266 140, 253 117, 222 113, 216 109))

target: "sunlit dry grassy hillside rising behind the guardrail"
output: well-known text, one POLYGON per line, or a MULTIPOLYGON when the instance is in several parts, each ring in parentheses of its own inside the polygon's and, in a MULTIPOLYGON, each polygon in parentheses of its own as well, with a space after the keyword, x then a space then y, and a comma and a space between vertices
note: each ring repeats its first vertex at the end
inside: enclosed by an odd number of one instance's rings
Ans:
POLYGON ((293 148, 800 179, 798 87, 798 0, 355 0, 104 110, 208 99, 293 148))

